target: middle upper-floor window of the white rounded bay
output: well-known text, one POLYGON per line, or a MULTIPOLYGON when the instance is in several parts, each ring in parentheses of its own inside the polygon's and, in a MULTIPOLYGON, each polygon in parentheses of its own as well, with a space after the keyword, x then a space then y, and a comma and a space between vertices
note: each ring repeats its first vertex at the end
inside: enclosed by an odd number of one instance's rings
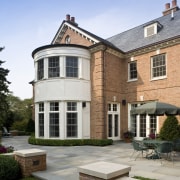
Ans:
POLYGON ((59 57, 49 57, 48 63, 49 78, 59 77, 59 57))

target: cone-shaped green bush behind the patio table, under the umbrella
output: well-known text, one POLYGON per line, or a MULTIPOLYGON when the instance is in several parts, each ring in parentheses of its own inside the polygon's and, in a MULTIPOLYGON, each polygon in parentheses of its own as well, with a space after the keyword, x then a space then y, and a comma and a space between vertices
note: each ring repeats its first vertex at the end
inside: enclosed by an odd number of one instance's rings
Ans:
POLYGON ((159 137, 162 140, 172 141, 180 138, 180 126, 175 116, 168 116, 160 130, 159 137))

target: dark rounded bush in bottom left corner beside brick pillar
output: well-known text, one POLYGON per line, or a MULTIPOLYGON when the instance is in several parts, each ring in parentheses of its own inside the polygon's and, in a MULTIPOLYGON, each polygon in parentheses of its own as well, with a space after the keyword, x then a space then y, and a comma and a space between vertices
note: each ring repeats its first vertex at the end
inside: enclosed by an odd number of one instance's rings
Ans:
POLYGON ((20 177, 19 163, 13 157, 0 155, 0 179, 17 180, 20 177))

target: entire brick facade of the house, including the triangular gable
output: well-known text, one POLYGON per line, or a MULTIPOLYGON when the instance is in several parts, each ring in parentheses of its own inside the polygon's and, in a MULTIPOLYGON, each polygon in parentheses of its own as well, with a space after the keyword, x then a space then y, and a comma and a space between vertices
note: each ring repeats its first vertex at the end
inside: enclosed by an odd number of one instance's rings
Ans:
MULTIPOLYGON (((169 13, 169 4, 166 5, 169 13)), ((176 1, 173 8, 178 10, 176 1)), ((175 11, 174 10, 174 11, 175 11)), ((167 12, 164 12, 166 14, 167 12)), ((102 139, 108 137, 108 103, 115 102, 120 105, 120 139, 128 129, 129 105, 147 101, 162 101, 180 106, 180 38, 161 41, 156 44, 144 46, 129 52, 121 52, 108 43, 95 36, 91 37, 86 31, 78 31, 76 23, 68 21, 62 32, 53 40, 54 44, 64 44, 65 38, 70 37, 70 44, 89 47, 91 53, 90 79, 91 79, 91 105, 90 105, 90 132, 91 138, 102 139), (87 36, 86 36, 87 33, 87 36), (167 77, 159 80, 151 79, 151 57, 165 54, 167 77), (137 62, 138 77, 136 81, 128 81, 128 63, 137 62), (125 102, 124 104, 122 102, 125 102)), ((62 26, 63 27, 63 26, 62 26)), ((142 34, 143 36, 143 34, 142 34)), ((160 117, 161 127, 164 119, 160 117)))

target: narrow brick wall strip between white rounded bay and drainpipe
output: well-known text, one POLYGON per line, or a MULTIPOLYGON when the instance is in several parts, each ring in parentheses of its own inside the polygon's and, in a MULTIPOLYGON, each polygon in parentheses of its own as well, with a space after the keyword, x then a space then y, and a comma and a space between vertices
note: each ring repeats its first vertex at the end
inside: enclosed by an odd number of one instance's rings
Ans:
POLYGON ((103 51, 99 51, 91 59, 91 138, 97 139, 106 137, 103 56, 103 51))

